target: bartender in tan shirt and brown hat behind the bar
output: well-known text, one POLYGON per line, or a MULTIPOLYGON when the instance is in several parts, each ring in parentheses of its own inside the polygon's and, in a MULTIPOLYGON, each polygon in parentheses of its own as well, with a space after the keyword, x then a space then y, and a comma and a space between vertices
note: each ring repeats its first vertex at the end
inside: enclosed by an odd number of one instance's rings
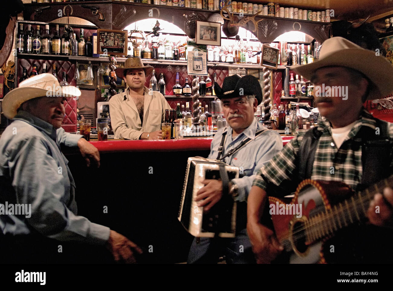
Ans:
POLYGON ((143 66, 140 58, 129 58, 116 75, 127 83, 126 92, 109 100, 110 119, 117 138, 161 139, 165 109, 171 109, 165 97, 144 86, 152 66, 143 66))

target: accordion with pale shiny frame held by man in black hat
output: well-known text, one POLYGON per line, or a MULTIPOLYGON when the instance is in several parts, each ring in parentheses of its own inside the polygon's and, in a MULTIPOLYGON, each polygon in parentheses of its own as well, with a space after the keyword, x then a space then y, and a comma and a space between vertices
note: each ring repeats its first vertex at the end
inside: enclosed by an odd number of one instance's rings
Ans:
POLYGON ((203 157, 189 157, 187 160, 178 220, 193 236, 235 237, 236 203, 229 194, 223 196, 208 213, 204 213, 203 207, 198 207, 197 202, 194 201, 196 192, 204 187, 201 181, 204 179, 220 180, 220 166, 225 167, 229 180, 239 178, 239 168, 224 162, 203 157))

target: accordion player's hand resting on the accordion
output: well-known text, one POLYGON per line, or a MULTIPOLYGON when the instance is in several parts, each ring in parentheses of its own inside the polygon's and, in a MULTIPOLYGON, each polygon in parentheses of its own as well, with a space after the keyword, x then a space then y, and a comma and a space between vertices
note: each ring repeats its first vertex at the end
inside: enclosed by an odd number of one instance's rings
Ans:
POLYGON ((204 206, 204 211, 208 212, 222 197, 222 181, 205 179, 201 181, 205 187, 196 192, 195 201, 200 201, 198 207, 204 206))

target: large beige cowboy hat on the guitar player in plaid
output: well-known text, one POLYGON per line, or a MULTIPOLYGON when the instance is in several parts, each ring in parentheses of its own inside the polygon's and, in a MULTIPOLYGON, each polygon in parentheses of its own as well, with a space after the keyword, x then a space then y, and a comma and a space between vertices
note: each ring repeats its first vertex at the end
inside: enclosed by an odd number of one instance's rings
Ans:
POLYGON ((310 80, 316 70, 327 66, 342 66, 363 73, 371 81, 368 100, 380 99, 393 92, 391 62, 375 51, 361 48, 342 37, 325 40, 318 61, 290 68, 310 80))

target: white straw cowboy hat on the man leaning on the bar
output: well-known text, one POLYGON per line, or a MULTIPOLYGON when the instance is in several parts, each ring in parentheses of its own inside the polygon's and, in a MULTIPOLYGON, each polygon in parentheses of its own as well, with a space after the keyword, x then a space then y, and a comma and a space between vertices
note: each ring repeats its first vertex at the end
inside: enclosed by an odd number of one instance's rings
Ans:
POLYGON ((13 119, 20 105, 37 97, 79 97, 81 91, 74 86, 60 86, 59 81, 50 73, 40 74, 20 82, 19 87, 4 96, 2 110, 4 115, 13 119))

